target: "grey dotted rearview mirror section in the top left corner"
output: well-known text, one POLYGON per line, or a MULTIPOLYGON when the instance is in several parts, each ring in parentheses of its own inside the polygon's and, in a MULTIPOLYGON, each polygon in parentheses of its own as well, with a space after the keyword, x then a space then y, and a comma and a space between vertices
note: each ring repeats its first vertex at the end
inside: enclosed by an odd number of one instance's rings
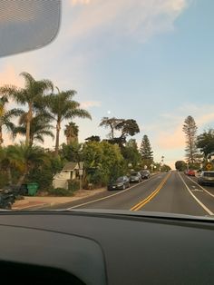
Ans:
POLYGON ((0 1, 0 56, 50 44, 60 19, 61 0, 0 1))

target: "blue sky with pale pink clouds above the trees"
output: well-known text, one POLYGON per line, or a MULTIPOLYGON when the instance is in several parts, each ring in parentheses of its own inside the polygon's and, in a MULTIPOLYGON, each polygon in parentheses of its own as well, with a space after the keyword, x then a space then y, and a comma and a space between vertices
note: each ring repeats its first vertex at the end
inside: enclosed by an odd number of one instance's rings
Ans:
MULTIPOLYGON (((74 89, 92 114, 74 120, 80 142, 106 138, 104 116, 134 119, 137 142, 147 134, 155 162, 164 156, 174 167, 185 155, 185 118, 193 116, 198 133, 214 127, 213 9, 213 0, 63 0, 53 43, 1 58, 0 85, 23 86, 25 71, 74 89)), ((45 147, 53 145, 45 138, 45 147)))

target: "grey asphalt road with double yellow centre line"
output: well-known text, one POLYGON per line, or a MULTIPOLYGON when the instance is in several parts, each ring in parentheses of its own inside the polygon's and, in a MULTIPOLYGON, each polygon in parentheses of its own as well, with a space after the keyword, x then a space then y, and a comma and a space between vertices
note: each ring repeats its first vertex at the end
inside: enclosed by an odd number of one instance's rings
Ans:
MULTIPOLYGON (((46 208, 47 209, 47 208, 46 208)), ((59 209, 59 206, 48 209, 59 209)), ((60 209, 112 209, 214 215, 214 187, 201 187, 196 178, 180 172, 160 173, 125 191, 103 192, 60 209)))

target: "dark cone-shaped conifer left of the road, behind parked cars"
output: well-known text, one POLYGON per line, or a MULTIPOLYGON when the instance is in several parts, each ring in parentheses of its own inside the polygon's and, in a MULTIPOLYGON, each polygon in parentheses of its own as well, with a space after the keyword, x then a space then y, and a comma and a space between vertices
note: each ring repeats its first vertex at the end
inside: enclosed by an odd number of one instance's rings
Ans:
POLYGON ((141 159, 142 159, 142 166, 151 167, 153 162, 153 152, 151 151, 151 143, 146 134, 143 135, 141 140, 141 159))

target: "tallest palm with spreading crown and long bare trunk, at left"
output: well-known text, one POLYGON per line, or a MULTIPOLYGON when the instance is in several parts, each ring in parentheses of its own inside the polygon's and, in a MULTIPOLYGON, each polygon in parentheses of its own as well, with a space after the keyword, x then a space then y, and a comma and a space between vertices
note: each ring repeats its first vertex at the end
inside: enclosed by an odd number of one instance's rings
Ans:
POLYGON ((30 143, 30 129, 34 117, 34 113, 43 109, 44 93, 53 91, 53 83, 50 80, 36 81, 31 74, 21 73, 24 77, 24 88, 17 88, 15 86, 5 85, 0 87, 0 93, 5 96, 10 96, 15 99, 16 103, 22 105, 27 104, 28 111, 26 114, 26 139, 25 144, 30 143))

